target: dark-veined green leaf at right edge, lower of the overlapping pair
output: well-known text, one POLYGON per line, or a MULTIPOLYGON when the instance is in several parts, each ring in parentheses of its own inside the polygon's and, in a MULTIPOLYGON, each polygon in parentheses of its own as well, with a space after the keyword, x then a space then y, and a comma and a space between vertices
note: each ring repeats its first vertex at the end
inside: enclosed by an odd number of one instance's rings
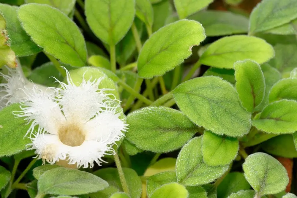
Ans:
POLYGON ((297 102, 282 99, 268 104, 252 121, 267 133, 286 134, 297 131, 297 102))

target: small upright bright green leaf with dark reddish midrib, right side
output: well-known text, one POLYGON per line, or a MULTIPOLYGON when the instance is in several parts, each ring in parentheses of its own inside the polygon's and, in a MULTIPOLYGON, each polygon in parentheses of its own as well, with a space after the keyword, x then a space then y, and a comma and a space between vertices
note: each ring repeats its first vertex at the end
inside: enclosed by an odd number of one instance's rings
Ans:
POLYGON ((234 68, 238 97, 242 106, 253 113, 264 99, 264 74, 260 65, 251 60, 237 61, 234 68))

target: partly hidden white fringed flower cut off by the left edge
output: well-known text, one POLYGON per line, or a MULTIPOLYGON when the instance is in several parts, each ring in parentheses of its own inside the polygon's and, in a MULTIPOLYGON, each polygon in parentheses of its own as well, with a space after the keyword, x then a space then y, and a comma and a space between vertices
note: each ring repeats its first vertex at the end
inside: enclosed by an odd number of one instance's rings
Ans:
MULTIPOLYGON (((0 83, 0 110, 12 103, 20 102, 34 86, 34 83, 23 74, 20 64, 16 69, 6 68, 8 70, 7 75, 0 72, 0 77, 3 77, 3 80, 6 81, 0 83)), ((36 86, 42 90, 47 89, 43 85, 36 86)))

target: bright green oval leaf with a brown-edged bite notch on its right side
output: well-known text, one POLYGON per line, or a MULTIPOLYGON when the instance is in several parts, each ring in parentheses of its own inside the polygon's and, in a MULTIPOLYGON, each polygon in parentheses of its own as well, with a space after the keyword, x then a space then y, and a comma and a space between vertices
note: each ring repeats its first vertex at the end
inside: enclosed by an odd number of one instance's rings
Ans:
POLYGON ((180 65, 192 47, 206 38, 200 23, 179 20, 159 29, 143 45, 138 57, 138 76, 152 78, 180 65))

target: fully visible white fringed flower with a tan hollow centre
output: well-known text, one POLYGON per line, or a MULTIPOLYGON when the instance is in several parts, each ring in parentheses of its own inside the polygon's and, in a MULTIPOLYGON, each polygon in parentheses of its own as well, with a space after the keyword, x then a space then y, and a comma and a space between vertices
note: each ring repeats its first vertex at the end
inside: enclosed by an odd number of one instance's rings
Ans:
POLYGON ((35 149, 38 159, 50 164, 67 160, 84 168, 93 167, 94 161, 101 165, 104 155, 114 154, 112 146, 127 129, 119 118, 120 101, 106 93, 110 89, 98 88, 103 78, 83 79, 76 86, 66 72, 67 84, 57 80, 61 88, 50 88, 53 96, 34 87, 22 102, 17 116, 31 123, 27 149, 35 149))

